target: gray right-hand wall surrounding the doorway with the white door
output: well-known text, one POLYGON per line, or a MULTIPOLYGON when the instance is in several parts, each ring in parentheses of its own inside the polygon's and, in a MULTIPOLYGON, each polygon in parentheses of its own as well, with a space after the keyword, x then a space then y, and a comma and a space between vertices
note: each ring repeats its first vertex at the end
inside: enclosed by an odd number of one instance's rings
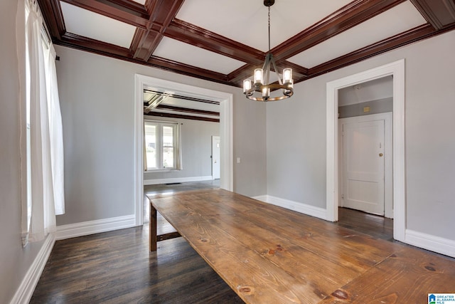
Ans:
POLYGON ((295 85, 267 104, 267 194, 326 208, 326 83, 405 58, 407 229, 455 240, 455 31, 295 85))

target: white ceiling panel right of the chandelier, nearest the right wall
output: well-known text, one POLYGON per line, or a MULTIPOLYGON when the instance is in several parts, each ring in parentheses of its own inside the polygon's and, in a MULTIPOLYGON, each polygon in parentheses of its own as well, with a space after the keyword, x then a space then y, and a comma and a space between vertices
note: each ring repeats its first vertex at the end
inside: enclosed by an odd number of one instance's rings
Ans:
POLYGON ((410 1, 406 1, 288 60, 306 68, 313 68, 424 23, 427 21, 419 11, 410 1))

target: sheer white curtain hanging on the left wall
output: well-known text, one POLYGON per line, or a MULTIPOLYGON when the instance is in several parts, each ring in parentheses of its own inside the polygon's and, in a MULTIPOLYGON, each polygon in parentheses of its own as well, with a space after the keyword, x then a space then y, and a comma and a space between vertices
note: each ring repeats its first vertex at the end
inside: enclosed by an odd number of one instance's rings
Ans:
POLYGON ((55 73, 55 50, 43 33, 35 1, 26 0, 26 103, 28 143, 28 218, 23 242, 41 241, 55 231, 55 215, 65 212, 63 132, 55 73), (28 13, 28 14, 27 14, 28 13))

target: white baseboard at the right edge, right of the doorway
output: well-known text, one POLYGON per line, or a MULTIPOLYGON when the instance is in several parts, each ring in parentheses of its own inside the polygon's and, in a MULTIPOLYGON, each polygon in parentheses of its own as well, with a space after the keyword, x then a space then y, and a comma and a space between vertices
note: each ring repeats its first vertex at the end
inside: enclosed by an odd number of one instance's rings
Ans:
POLYGON ((406 229, 405 243, 455 258, 455 241, 406 229))

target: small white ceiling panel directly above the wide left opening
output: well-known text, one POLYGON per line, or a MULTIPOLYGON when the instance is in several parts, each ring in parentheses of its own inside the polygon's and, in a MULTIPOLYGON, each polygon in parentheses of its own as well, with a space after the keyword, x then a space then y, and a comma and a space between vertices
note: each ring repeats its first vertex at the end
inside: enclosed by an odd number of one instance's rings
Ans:
POLYGON ((228 74, 245 65, 242 61, 166 37, 159 43, 158 48, 154 51, 154 56, 223 74, 228 74))

